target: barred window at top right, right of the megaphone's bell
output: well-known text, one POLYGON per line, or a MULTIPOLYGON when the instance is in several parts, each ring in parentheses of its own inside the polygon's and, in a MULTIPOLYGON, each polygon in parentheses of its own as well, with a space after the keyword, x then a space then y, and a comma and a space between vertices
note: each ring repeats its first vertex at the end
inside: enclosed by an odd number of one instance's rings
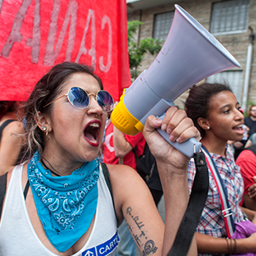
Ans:
POLYGON ((249 0, 213 3, 210 32, 226 35, 247 31, 248 12, 249 0))

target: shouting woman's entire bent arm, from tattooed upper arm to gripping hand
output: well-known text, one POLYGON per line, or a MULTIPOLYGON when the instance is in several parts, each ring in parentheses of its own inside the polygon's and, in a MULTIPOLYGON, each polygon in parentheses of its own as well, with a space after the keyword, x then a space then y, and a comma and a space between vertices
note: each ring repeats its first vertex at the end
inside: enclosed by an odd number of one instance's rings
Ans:
MULTIPOLYGON (((143 134, 149 149, 158 164, 159 176, 164 190, 165 227, 154 205, 148 187, 135 171, 121 166, 111 167, 111 183, 119 220, 124 216, 132 237, 141 254, 166 255, 173 245, 178 227, 187 209, 187 164, 189 159, 169 145, 159 135, 162 127, 170 135, 169 139, 183 142, 198 137, 198 130, 187 118, 185 111, 171 107, 164 121, 149 116, 143 134), (117 178, 118 177, 118 178, 117 178), (123 191, 123 193, 121 193, 123 191)), ((197 255, 196 239, 192 240, 188 255, 197 255)))

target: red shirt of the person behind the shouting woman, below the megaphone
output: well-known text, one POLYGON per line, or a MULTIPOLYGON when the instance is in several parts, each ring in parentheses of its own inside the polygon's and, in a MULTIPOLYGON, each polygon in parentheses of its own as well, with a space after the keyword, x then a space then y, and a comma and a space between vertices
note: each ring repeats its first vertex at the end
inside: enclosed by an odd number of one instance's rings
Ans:
MULTIPOLYGON (((114 143, 113 143, 113 124, 110 123, 107 126, 106 134, 105 134, 105 142, 103 143, 103 162, 106 164, 118 164, 119 159, 116 158, 114 143)), ((126 140, 130 143, 132 148, 137 146, 137 154, 138 156, 143 154, 145 148, 145 139, 140 132, 138 135, 125 135, 126 140)), ((123 158, 124 164, 130 166, 131 168, 136 169, 136 161, 135 154, 131 150, 126 156, 123 158)))

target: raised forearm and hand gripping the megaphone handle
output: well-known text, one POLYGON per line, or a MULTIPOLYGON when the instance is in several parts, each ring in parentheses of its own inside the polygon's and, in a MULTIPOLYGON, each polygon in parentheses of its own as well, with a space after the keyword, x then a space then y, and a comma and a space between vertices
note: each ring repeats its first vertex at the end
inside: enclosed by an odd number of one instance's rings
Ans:
MULTIPOLYGON (((165 232, 163 255, 173 244, 178 227, 187 209, 189 199, 187 187, 187 165, 189 158, 180 153, 159 135, 156 128, 161 127, 170 135, 169 139, 182 143, 191 137, 199 138, 199 131, 193 126, 192 120, 187 118, 186 112, 170 107, 161 122, 154 116, 149 116, 144 129, 145 140, 158 164, 159 176, 164 191, 165 203, 165 232)), ((192 241, 190 253, 197 255, 195 239, 192 241)))

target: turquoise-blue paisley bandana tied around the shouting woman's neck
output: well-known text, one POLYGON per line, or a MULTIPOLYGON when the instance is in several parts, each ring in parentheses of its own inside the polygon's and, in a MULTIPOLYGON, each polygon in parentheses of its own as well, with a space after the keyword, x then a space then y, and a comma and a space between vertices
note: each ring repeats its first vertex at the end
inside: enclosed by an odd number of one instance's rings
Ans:
POLYGON ((99 162, 95 159, 71 175, 52 177, 36 152, 27 175, 45 234, 55 249, 64 252, 88 230, 96 212, 99 162))

